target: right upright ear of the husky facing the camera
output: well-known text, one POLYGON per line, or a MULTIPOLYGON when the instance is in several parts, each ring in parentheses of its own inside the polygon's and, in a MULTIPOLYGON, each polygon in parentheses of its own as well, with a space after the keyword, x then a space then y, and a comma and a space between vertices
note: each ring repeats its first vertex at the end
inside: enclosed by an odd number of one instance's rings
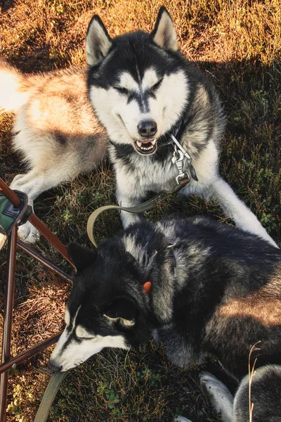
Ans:
POLYGON ((179 49, 174 23, 164 6, 159 9, 155 28, 151 32, 151 36, 155 44, 162 49, 173 51, 179 49))

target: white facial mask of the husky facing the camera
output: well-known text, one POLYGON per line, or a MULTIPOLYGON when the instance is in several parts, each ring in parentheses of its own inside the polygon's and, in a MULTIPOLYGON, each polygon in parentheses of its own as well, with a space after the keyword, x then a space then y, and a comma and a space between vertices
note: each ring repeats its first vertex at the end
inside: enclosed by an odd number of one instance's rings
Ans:
MULTIPOLYGON (((138 84, 128 72, 124 72, 118 86, 140 92, 152 87, 157 80, 155 70, 150 68, 145 71, 141 84, 138 84)), ((183 89, 185 85, 184 72, 165 75, 157 89, 156 99, 149 98, 149 112, 146 113, 141 112, 136 100, 128 104, 127 96, 119 94, 113 87, 105 90, 92 86, 90 98, 100 122, 107 128, 112 141, 133 145, 134 140, 141 139, 138 134, 138 123, 142 120, 154 120, 157 123, 157 134, 154 136, 156 139, 178 120, 188 100, 188 89, 183 89)))

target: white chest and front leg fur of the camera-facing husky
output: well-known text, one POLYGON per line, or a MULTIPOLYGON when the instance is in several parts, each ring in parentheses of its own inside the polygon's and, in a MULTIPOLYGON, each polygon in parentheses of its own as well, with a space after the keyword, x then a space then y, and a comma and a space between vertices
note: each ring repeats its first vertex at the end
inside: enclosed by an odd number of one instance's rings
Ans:
MULTIPOLYGON (((141 157, 134 162, 135 171, 129 174, 124 165, 115 164, 117 179, 117 200, 124 207, 133 207, 143 201, 148 191, 156 193, 171 190, 176 186, 176 166, 171 162, 154 162, 151 165, 150 157, 141 157), (145 165, 145 160, 148 164, 145 165), (145 171, 144 171, 145 169, 145 171)), ((183 161, 186 165, 186 159, 183 161)), ((249 233, 261 236, 269 243, 277 247, 275 241, 268 235, 256 216, 240 200, 232 188, 221 178, 218 173, 218 151, 214 141, 209 141, 206 148, 198 158, 193 160, 199 181, 191 180, 180 191, 181 195, 200 195, 205 199, 218 200, 223 211, 232 218, 236 226, 249 233)), ((138 215, 126 211, 121 212, 123 225, 138 221, 138 215)))

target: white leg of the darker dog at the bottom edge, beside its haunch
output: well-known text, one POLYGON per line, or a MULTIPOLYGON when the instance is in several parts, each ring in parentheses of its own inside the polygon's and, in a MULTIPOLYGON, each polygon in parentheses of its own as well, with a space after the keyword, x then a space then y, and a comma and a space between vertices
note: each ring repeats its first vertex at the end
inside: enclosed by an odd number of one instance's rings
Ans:
POLYGON ((209 372, 200 373, 200 385, 223 422, 233 422, 233 395, 226 385, 209 372))

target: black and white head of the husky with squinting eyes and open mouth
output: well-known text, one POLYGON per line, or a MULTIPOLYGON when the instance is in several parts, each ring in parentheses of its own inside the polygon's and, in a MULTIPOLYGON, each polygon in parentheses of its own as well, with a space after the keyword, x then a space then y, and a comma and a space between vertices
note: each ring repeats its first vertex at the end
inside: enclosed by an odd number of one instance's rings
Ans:
POLYGON ((161 8, 151 34, 111 39, 93 16, 86 36, 89 98, 112 141, 151 155, 181 121, 188 99, 174 25, 161 8))

